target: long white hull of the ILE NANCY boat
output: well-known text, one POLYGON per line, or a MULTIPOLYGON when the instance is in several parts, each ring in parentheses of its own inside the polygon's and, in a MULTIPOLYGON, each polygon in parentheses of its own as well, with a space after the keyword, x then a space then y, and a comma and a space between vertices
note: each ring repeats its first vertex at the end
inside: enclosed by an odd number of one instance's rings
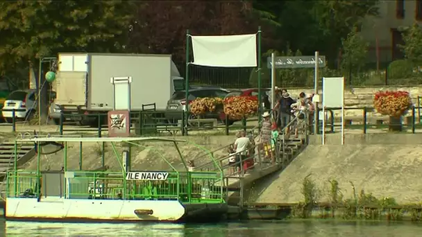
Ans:
POLYGON ((177 221, 185 207, 177 200, 41 200, 8 198, 6 220, 177 221))

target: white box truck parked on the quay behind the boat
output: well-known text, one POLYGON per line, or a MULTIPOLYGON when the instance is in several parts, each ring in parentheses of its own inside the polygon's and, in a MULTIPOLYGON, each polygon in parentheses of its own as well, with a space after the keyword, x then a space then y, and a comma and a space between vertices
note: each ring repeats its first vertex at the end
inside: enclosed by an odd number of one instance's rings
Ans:
POLYGON ((88 116, 76 114, 141 111, 151 104, 164 110, 174 91, 184 85, 171 55, 59 53, 53 89, 62 113, 86 121, 88 116))

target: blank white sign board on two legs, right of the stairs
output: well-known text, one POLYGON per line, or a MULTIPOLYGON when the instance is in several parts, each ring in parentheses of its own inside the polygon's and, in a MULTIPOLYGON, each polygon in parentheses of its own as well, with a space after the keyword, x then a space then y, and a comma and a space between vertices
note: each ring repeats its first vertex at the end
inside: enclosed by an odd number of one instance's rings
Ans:
POLYGON ((322 78, 322 144, 326 143, 326 109, 341 108, 341 145, 344 144, 344 78, 322 78))

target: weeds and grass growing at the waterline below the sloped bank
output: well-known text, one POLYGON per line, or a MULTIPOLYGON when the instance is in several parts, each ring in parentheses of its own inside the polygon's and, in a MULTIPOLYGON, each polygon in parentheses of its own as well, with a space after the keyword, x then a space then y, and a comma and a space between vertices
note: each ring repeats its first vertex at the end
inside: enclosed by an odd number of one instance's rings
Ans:
POLYGON ((292 207, 291 218, 341 218, 344 220, 411 220, 422 221, 422 202, 398 204, 394 198, 377 198, 350 182, 351 197, 344 197, 336 179, 330 184, 329 201, 319 202, 321 190, 312 181, 312 175, 303 179, 303 201, 292 207))

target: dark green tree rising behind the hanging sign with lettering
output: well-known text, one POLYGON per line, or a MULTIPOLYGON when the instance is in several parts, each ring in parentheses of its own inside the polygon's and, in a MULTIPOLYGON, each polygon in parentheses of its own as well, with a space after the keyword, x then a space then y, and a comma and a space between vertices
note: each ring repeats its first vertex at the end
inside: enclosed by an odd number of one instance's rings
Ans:
POLYGON ((360 28, 364 17, 378 15, 379 0, 287 1, 280 16, 281 30, 292 49, 320 51, 330 62, 339 55, 341 39, 360 28))

